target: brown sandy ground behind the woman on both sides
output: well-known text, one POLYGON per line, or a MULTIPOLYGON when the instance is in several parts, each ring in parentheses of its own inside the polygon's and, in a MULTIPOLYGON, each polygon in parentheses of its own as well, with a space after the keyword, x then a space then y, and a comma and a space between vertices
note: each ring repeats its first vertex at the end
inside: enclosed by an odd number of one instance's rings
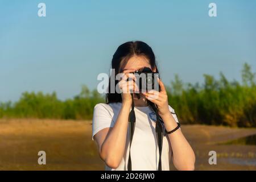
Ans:
MULTIPOLYGON (((0 170, 104 170, 91 123, 0 119, 0 170), (41 150, 46 165, 38 164, 41 150)), ((256 129, 184 125, 182 131, 195 151, 196 170, 256 170, 256 146, 218 144, 256 134, 256 129), (217 152, 216 165, 208 163, 209 151, 217 152)))

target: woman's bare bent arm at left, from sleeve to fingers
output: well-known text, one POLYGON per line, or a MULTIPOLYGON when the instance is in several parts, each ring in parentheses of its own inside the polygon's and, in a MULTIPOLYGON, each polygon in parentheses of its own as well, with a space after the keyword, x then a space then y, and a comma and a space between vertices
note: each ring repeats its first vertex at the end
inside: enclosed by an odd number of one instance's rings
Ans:
MULTIPOLYGON (((129 70, 126 72, 129 72, 129 70)), ((126 82, 128 77, 135 79, 134 75, 127 75, 119 82, 119 88, 126 87, 127 90, 122 93, 122 107, 119 110, 114 127, 103 129, 94 135, 101 159, 111 168, 119 166, 125 153, 128 119, 132 102, 131 94, 128 91, 130 88, 138 89, 134 80, 126 82)))

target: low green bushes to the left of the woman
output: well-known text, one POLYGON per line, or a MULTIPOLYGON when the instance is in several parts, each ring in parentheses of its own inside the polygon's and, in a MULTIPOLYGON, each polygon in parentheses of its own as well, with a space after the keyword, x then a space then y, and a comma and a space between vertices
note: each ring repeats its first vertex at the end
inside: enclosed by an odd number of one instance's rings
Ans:
POLYGON ((55 92, 24 92, 19 101, 1 103, 0 117, 7 118, 50 118, 50 119, 91 119, 94 105, 104 102, 96 90, 90 92, 86 86, 73 99, 61 101, 55 92))

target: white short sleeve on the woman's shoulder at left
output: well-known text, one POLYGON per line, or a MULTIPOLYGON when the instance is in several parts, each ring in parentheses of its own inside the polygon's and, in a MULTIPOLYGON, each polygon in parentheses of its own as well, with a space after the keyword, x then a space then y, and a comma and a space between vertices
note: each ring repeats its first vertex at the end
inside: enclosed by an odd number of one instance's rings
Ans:
POLYGON ((93 110, 92 140, 98 131, 108 127, 114 127, 114 122, 112 120, 112 115, 108 110, 108 105, 97 104, 93 110))

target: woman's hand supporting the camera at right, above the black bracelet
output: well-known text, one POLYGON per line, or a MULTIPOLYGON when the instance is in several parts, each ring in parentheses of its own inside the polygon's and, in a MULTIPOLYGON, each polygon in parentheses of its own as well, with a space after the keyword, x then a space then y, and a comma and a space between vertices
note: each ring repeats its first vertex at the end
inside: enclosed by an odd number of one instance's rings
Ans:
POLYGON ((153 102, 158 106, 159 115, 160 117, 163 117, 163 115, 170 113, 170 110, 168 106, 166 89, 164 88, 163 82, 159 78, 158 83, 160 86, 160 92, 156 90, 150 90, 147 93, 143 93, 143 95, 147 98, 147 100, 153 102))

